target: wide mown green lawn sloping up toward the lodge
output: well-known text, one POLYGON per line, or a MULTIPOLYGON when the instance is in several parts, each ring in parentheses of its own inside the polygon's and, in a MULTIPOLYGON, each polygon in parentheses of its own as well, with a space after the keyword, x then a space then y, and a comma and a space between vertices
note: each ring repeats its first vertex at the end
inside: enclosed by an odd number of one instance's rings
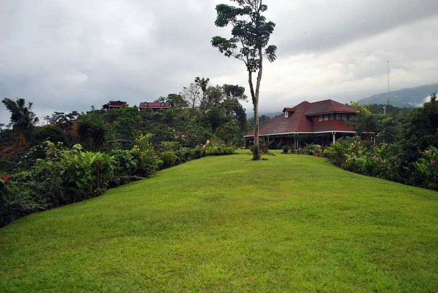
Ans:
POLYGON ((437 292, 438 193, 207 157, 0 229, 0 292, 437 292))

